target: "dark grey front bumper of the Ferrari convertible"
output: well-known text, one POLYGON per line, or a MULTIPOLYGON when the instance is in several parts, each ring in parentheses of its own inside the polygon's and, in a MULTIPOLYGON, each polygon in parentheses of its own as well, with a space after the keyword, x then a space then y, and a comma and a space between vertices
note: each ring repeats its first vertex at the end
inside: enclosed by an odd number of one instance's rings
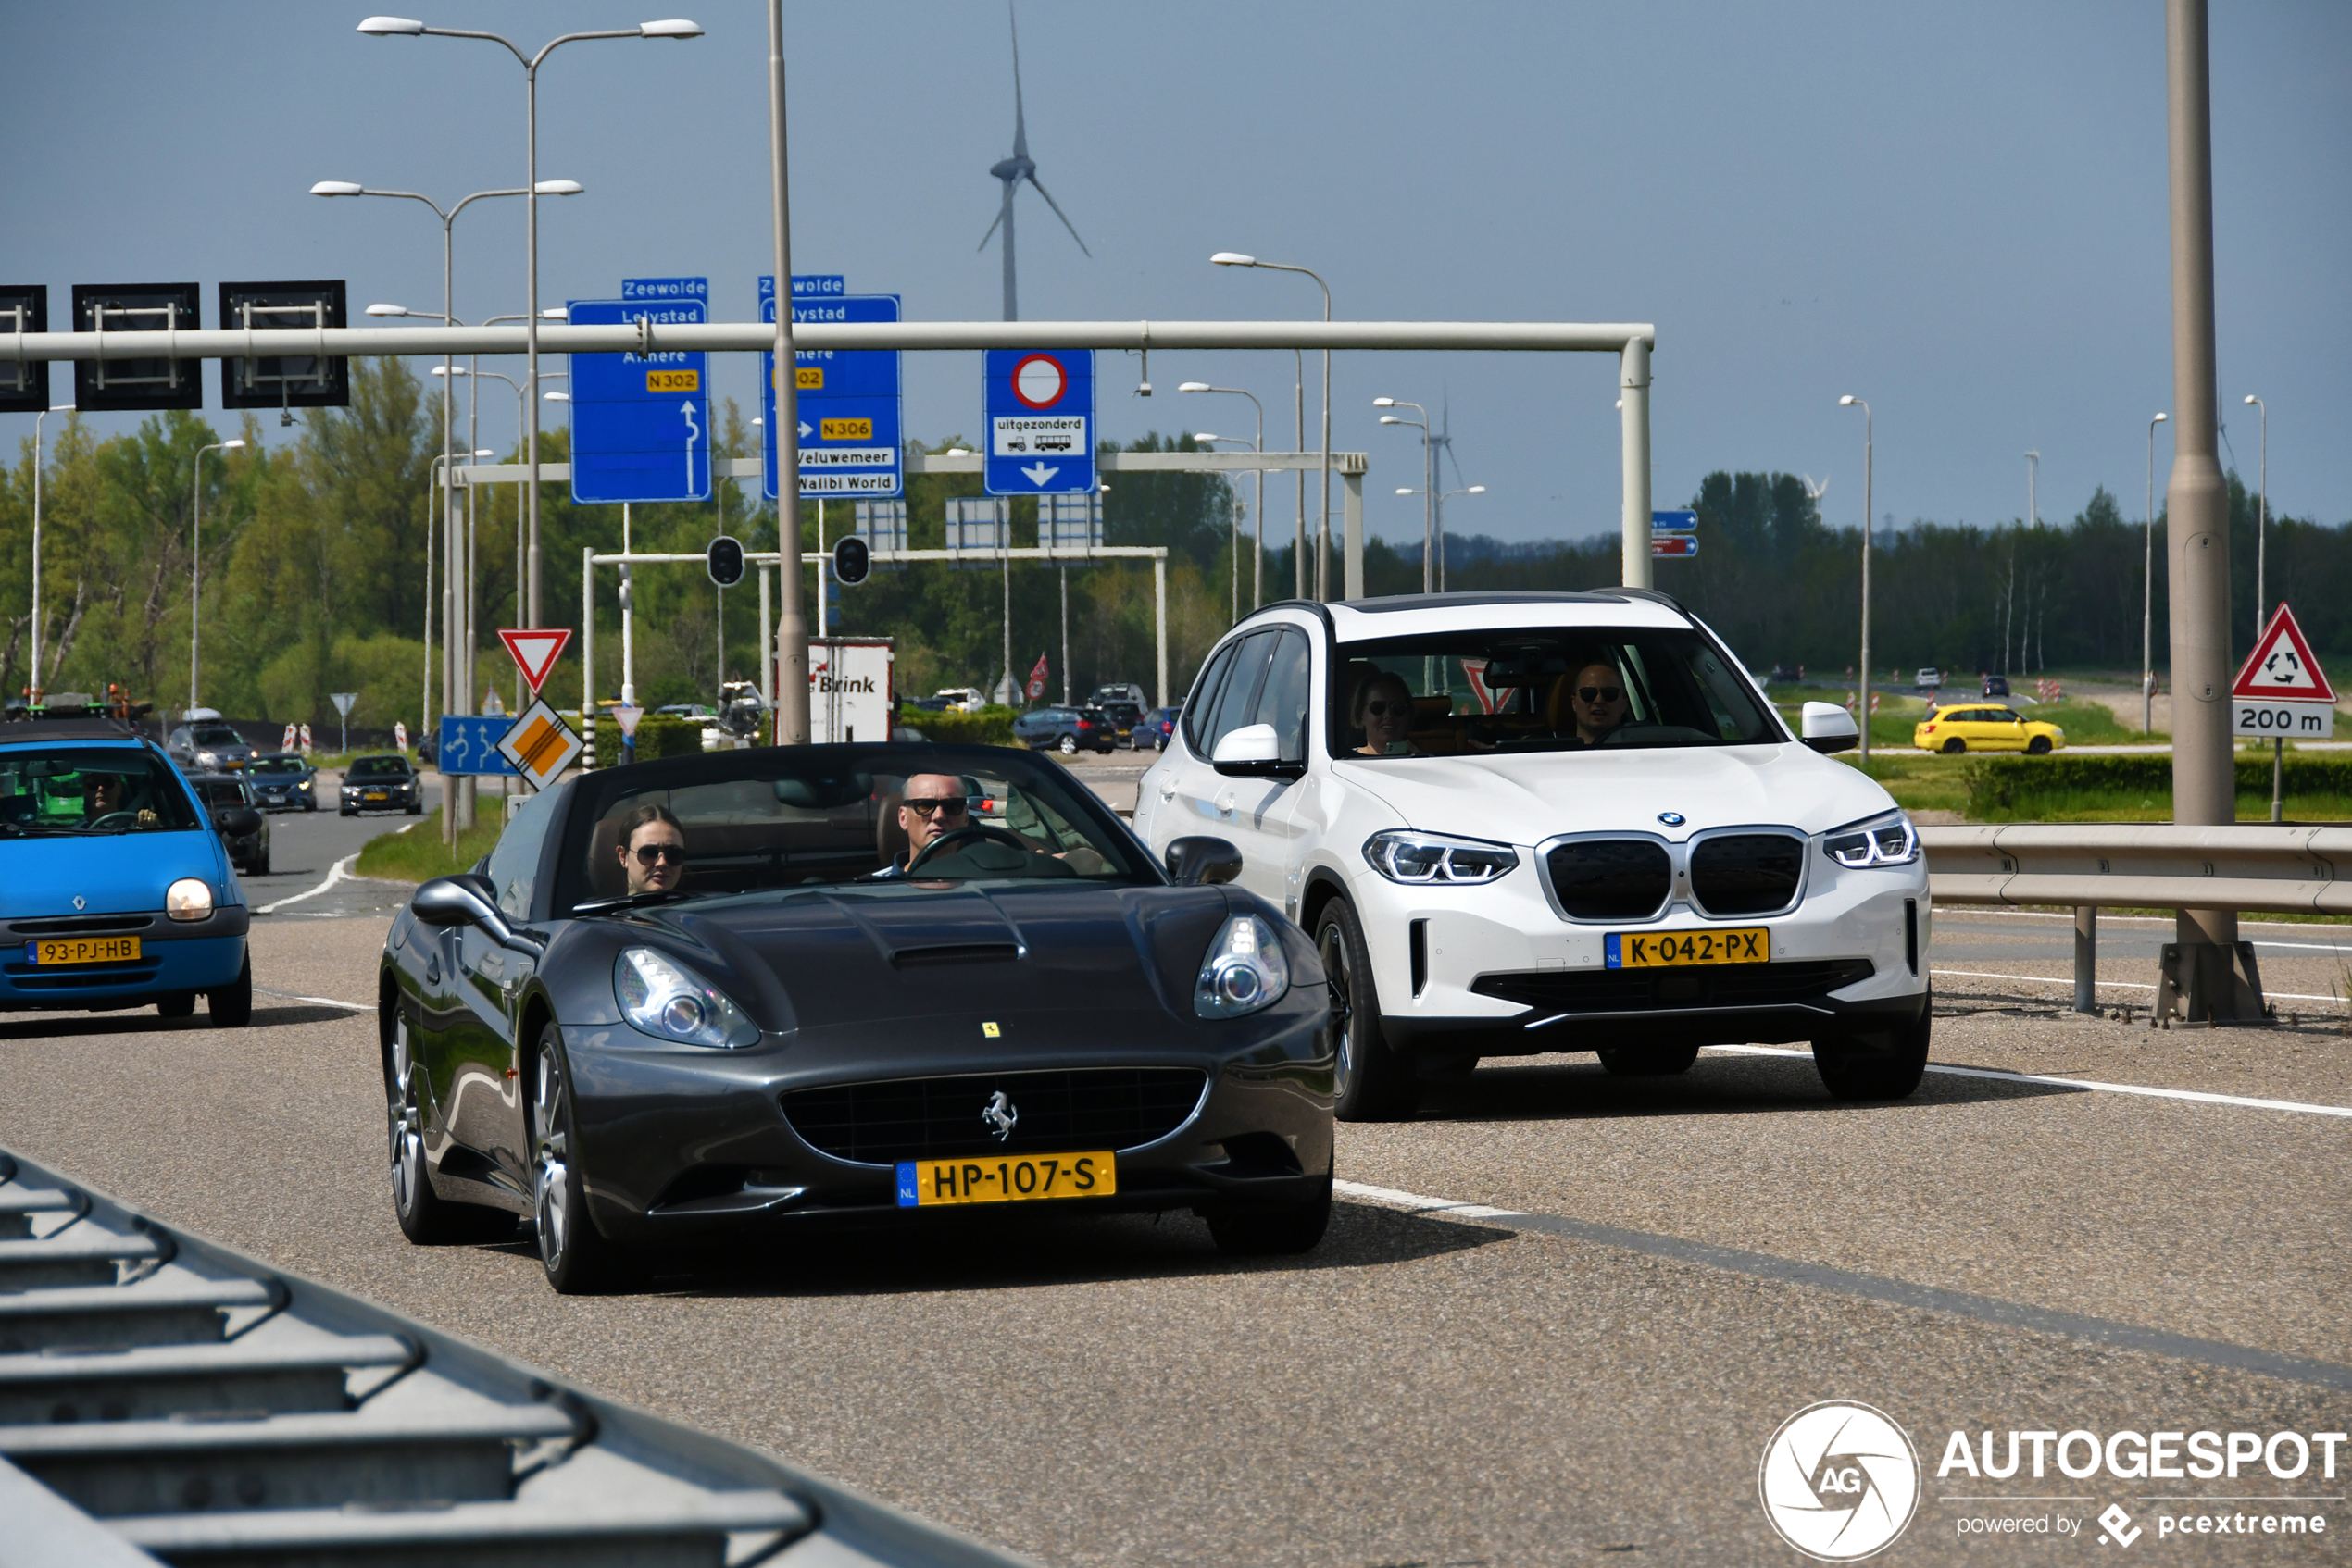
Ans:
MULTIPOLYGON (((978 1079, 1122 1067, 1185 1067, 1204 1074, 1190 1114, 1136 1147, 1117 1150, 1117 1194, 1044 1206, 1082 1213, 1284 1204, 1319 1192, 1331 1171, 1334 1060, 1324 1053, 1324 997, 1294 994, 1230 1027, 1190 1027, 1164 1016, 1051 1013, 1002 1018, 1007 1039, 1051 1041, 981 1060, 870 1046, 875 1030, 809 1030, 743 1051, 661 1046, 626 1027, 567 1027, 576 1164, 597 1229, 616 1241, 666 1244, 739 1229, 797 1232, 809 1225, 915 1225, 938 1208, 901 1208, 896 1161, 837 1159, 793 1126, 786 1095, 840 1084, 978 1079), (1263 1020, 1263 1023, 1258 1023, 1263 1020), (1249 1027, 1258 1023, 1258 1027, 1249 1027), (842 1039, 823 1039, 837 1034, 842 1039), (1082 1034, 1082 1039, 1073 1039, 1082 1034)), ((985 1095, 971 1098, 971 1128, 985 1095)), ((1002 1154, 1105 1147, 1028 1143, 1018 1128, 1002 1154)), ((995 1147, 995 1145, 993 1145, 995 1147)), ((920 1150, 908 1150, 920 1154, 920 1150)), ((962 1152, 936 1150, 931 1157, 962 1152)), ((1028 1204, 1023 1208, 1035 1208, 1028 1204)), ((960 1206, 971 1215, 990 1206, 960 1206)))

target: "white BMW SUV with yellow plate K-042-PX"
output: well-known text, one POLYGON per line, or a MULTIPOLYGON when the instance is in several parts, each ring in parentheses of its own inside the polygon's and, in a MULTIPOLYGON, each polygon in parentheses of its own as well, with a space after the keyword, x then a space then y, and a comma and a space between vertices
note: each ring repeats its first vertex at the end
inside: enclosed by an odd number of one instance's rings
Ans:
POLYGON ((1136 832, 1242 849, 1315 940, 1338 1107, 1411 1114, 1482 1056, 1811 1041, 1842 1100, 1929 1051, 1929 886, 1853 717, 1790 733, 1740 663, 1639 588, 1270 604, 1202 663, 1136 832))

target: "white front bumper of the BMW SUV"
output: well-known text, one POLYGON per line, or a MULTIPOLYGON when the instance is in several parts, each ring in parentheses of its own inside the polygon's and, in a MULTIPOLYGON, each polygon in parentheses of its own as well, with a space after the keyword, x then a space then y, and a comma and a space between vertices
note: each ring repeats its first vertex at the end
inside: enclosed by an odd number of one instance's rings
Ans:
POLYGON ((1653 922, 1581 924, 1543 896, 1543 863, 1486 886, 1404 886, 1364 870, 1362 914, 1395 1051, 1541 1056, 1623 1044, 1778 1044, 1884 1030, 1926 1001, 1926 860, 1846 870, 1806 844, 1788 914, 1710 919, 1675 903, 1653 922), (1418 933, 1416 933, 1418 924, 1418 933), (1769 964, 1609 969, 1611 931, 1771 931, 1769 964))

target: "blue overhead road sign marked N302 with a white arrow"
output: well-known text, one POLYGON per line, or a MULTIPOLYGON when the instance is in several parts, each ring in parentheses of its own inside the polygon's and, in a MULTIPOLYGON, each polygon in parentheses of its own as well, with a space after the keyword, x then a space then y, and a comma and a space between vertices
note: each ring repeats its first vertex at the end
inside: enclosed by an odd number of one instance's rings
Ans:
MULTIPOLYGON (((630 277, 623 299, 574 299, 574 327, 708 322, 701 277, 630 277)), ((572 355, 572 498, 710 498, 710 376, 701 350, 572 355)))

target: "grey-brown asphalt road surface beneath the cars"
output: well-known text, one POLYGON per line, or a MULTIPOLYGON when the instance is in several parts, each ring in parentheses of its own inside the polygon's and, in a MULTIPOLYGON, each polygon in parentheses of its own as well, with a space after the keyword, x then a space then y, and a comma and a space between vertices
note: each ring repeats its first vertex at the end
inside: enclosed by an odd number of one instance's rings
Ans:
MULTIPOLYGON (((1919 1448, 1889 1563, 2100 1552, 2110 1502, 2164 1561, 2333 1561, 2352 1528, 2352 1450, 2296 1481, 1936 1476, 1955 1429, 2352 1425, 2343 1006, 2154 1032, 1987 978, 2065 976, 2063 919, 1940 912, 1943 1070, 1912 1100, 1839 1107, 1780 1053, 1653 1081, 1494 1063, 1414 1124, 1343 1128, 1350 1187, 1301 1260, 1223 1260, 1178 1215, 988 1215, 567 1300, 522 1239, 400 1239, 374 1023, 329 1004, 372 994, 383 919, 299 910, 254 926, 249 1030, 0 1020, 0 1143, 1051 1563, 1797 1563, 1757 1465, 1823 1399, 1919 1448), (2328 1533, 2159 1540, 2166 1512, 2328 1533), (2074 1533, 1962 1537, 2011 1516, 2074 1533)), ((2107 931, 2114 997, 2145 994, 2159 929, 2107 931)), ((2338 964, 2274 961, 2312 992, 2338 964)))

